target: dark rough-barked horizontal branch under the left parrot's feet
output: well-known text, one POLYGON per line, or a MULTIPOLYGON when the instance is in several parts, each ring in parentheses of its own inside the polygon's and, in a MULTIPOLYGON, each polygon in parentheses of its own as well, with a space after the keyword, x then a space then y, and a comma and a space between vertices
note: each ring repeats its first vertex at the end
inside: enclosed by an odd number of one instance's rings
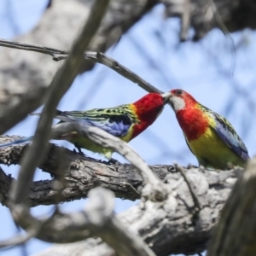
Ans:
MULTIPOLYGON (((20 137, 2 136, 0 137, 0 143, 13 141, 17 138, 20 137)), ((1 148, 0 163, 7 166, 20 164, 20 160, 27 147, 26 145, 25 147, 1 148)), ((46 160, 40 164, 39 168, 44 172, 49 172, 55 178, 32 183, 32 190, 29 195, 32 207, 40 204, 55 204, 55 196, 57 195, 55 183, 59 180, 61 173, 65 173, 65 177, 59 198, 60 202, 87 197, 88 191, 95 188, 96 185, 113 190, 116 197, 134 201, 140 199, 144 186, 143 178, 138 174, 134 166, 127 164, 114 166, 113 164, 94 160, 53 144, 50 147, 46 160), (60 154, 62 149, 64 149, 64 152, 60 154), (62 166, 61 170, 58 167, 60 163, 62 166)), ((174 176, 177 176, 177 172, 172 166, 150 166, 150 169, 162 181, 166 181, 166 176, 168 174, 172 175, 172 172, 175 174, 173 174, 174 176)), ((214 172, 206 171, 206 175, 210 175, 209 179, 212 179, 213 183, 217 183, 216 188, 218 188, 218 186, 222 186, 223 179, 236 177, 236 172, 223 172, 222 175, 224 177, 221 180, 216 180, 214 172)), ((0 187, 0 195, 3 197, 1 202, 5 204, 12 177, 2 171, 0 172, 1 180, 9 181, 8 183, 4 182, 6 185, 0 187)))

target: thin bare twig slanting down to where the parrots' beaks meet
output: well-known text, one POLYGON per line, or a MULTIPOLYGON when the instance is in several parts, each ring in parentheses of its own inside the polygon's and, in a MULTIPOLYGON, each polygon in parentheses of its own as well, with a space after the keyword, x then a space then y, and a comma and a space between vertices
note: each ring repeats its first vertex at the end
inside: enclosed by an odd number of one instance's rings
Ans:
MULTIPOLYGON (((53 57, 53 60, 55 61, 66 60, 68 55, 70 54, 70 52, 67 50, 53 49, 37 44, 26 44, 21 42, 8 41, 4 39, 0 39, 0 45, 3 47, 24 49, 29 51, 35 51, 45 55, 51 55, 53 57)), ((119 73, 126 79, 131 80, 133 83, 138 84, 140 87, 142 87, 144 90, 147 90, 148 92, 163 93, 161 90, 155 88, 152 84, 149 84, 147 81, 139 77, 136 73, 133 73, 130 69, 121 65, 118 61, 113 60, 112 58, 101 52, 85 51, 84 59, 101 63, 102 65, 110 67, 115 72, 119 73)))

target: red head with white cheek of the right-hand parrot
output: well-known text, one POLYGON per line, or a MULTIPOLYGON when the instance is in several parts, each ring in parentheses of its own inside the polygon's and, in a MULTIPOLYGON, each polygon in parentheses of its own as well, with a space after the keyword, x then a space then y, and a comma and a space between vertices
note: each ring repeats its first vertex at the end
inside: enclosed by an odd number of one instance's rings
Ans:
POLYGON ((170 102, 175 113, 184 108, 195 106, 197 103, 193 96, 181 89, 171 90, 170 102))

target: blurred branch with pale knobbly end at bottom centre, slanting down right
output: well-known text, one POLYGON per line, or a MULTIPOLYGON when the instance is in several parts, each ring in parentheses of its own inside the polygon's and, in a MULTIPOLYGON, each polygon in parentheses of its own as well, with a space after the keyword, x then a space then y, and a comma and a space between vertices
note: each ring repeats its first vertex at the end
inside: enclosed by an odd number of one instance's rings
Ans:
POLYGON ((113 214, 113 193, 107 189, 92 189, 89 198, 84 209, 88 221, 85 228, 94 236, 101 237, 120 256, 155 256, 142 238, 132 231, 127 232, 127 227, 113 214))

